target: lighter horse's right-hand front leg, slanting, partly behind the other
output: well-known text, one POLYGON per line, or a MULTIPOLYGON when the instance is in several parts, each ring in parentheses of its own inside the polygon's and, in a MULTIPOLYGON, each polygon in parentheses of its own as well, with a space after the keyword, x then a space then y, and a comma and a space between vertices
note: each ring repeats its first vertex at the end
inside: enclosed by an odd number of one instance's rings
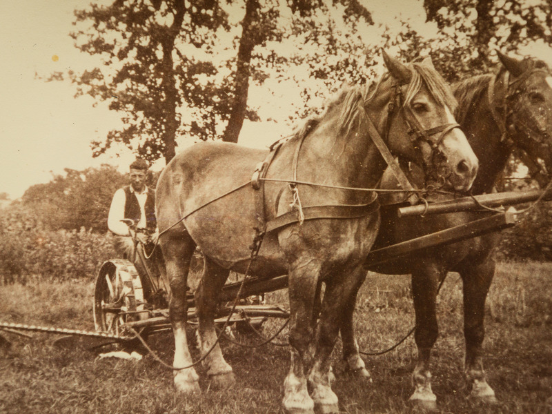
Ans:
MULTIPOLYGON (((337 395, 331 389, 330 355, 335 346, 343 318, 348 317, 348 304, 354 300, 366 270, 358 266, 335 277, 328 277, 320 314, 319 332, 313 367, 308 375, 308 386, 318 413, 338 413, 337 395)), ((353 339, 354 340, 354 339, 353 339)))

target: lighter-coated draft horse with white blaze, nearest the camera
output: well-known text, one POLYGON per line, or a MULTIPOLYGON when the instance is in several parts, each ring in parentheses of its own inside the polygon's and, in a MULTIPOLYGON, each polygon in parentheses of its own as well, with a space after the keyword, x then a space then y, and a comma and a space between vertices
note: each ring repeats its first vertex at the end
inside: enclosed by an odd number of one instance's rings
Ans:
POLYGON ((199 143, 161 173, 156 213, 170 285, 177 391, 200 391, 185 331, 188 266, 199 246, 204 272, 195 290, 197 337, 210 386, 235 381, 213 321, 229 271, 288 274, 291 363, 284 408, 338 411, 328 362, 339 331, 335 315, 362 282, 362 262, 380 226, 373 189, 386 166, 382 153, 421 164, 428 175, 445 171, 457 190, 469 188, 477 171, 477 159, 456 128, 451 89, 431 61, 404 64, 385 52, 383 58, 388 72, 380 81, 345 88, 323 115, 272 150, 199 143), (409 130, 417 132, 413 139, 409 130), (386 147, 382 153, 378 137, 386 147), (314 300, 323 282, 322 329, 311 361, 306 350, 314 340, 314 300))

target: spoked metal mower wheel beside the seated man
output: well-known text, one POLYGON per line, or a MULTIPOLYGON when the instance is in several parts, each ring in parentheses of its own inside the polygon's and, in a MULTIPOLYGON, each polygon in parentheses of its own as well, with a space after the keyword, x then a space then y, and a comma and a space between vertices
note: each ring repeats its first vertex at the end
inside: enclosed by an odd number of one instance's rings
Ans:
POLYGON ((134 265, 124 259, 112 259, 101 265, 94 293, 96 331, 120 335, 123 324, 147 317, 134 265))

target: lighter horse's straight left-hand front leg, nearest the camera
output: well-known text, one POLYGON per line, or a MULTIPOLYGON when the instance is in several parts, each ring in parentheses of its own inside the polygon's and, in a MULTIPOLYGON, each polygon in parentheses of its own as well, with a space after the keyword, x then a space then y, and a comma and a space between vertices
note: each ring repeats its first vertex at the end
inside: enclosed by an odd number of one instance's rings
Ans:
POLYGON ((310 257, 299 257, 290 266, 290 371, 284 381, 284 408, 288 413, 312 414, 314 402, 308 395, 306 364, 317 318, 315 298, 320 265, 310 257))

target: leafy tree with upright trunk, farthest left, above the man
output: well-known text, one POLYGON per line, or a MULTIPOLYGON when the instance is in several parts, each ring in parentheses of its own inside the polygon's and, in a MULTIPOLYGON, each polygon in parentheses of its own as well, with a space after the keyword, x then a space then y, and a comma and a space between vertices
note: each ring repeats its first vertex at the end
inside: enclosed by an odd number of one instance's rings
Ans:
POLYGON ((169 161, 178 135, 215 135, 217 115, 228 112, 221 108, 228 105, 228 82, 206 82, 217 70, 198 56, 218 43, 220 37, 210 34, 230 28, 217 1, 116 0, 110 6, 91 4, 75 16, 80 29, 72 33, 75 45, 103 59, 101 68, 68 74, 77 96, 108 101, 110 110, 126 114, 123 129, 92 143, 93 156, 118 142, 146 159, 169 161), (183 123, 186 111, 199 115, 183 123))

